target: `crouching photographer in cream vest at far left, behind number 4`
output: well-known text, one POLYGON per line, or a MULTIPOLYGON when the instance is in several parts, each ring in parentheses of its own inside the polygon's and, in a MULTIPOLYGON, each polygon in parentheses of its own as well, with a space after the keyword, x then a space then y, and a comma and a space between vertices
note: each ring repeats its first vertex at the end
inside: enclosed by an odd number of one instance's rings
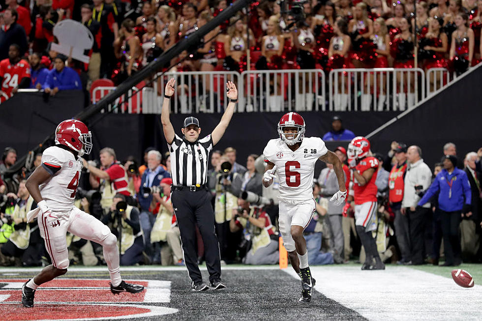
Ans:
POLYGON ((14 231, 1 247, 1 254, 15 258, 23 266, 39 266, 44 245, 41 242, 37 222, 27 224, 27 213, 37 205, 25 187, 25 180, 20 182, 17 195, 8 193, 7 196, 15 200, 11 215, 14 231))

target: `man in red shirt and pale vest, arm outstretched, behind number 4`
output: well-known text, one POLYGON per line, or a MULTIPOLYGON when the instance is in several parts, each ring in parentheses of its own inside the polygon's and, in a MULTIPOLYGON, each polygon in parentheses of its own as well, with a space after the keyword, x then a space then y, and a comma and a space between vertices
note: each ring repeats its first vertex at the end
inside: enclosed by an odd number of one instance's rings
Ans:
MULTIPOLYGON (((121 163, 116 160, 116 152, 114 151, 114 149, 110 147, 105 147, 100 150, 99 154, 100 164, 102 165, 100 169, 90 165, 85 159, 82 160, 84 162, 84 167, 88 171, 90 171, 90 185, 92 186, 92 188, 99 187, 99 180, 103 179, 104 184, 102 192, 104 199, 107 195, 106 190, 108 189, 109 185, 111 190, 108 193, 111 198, 117 193, 125 195, 127 199, 131 198, 131 194, 127 190, 127 173, 121 163)), ((129 203, 131 200, 127 201, 127 203, 129 203)))

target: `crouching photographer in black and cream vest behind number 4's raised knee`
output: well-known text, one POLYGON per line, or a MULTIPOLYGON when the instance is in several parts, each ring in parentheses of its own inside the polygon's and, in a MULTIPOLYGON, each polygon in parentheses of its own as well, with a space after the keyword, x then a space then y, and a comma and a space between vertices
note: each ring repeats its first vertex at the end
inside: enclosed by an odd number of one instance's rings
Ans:
POLYGON ((127 205, 125 200, 125 195, 116 194, 112 199, 110 212, 102 218, 102 223, 111 223, 112 233, 121 240, 121 265, 134 265, 143 261, 144 240, 139 223, 139 210, 127 205))

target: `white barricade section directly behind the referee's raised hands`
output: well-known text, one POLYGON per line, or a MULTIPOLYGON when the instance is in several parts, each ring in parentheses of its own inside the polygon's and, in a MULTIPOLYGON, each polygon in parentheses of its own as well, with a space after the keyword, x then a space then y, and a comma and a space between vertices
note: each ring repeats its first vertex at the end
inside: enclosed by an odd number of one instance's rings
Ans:
MULTIPOLYGON (((176 78, 176 90, 171 102, 171 110, 175 114, 190 113, 222 113, 228 106, 229 99, 226 96, 226 82, 232 81, 238 88, 238 111, 244 106, 240 88, 242 86, 241 75, 236 71, 183 71, 157 74, 157 90, 159 93, 158 105, 162 104, 164 88, 167 81, 176 78)), ((161 106, 158 106, 159 113, 161 106)), ((157 108, 154 108, 157 110, 157 108)))

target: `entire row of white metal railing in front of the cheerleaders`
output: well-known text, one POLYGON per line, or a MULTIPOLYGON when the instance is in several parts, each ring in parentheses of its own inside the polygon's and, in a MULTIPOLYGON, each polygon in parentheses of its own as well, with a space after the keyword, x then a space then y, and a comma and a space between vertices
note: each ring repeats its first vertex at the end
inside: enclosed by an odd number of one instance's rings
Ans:
MULTIPOLYGON (((132 88, 107 112, 160 114, 164 87, 175 77, 173 113, 222 113, 228 105, 225 83, 238 87, 236 112, 403 111, 450 83, 444 68, 334 69, 329 84, 321 69, 169 72, 158 74, 153 87, 132 88), (205 86, 205 84, 207 86, 205 86), (328 88, 328 93, 327 93, 328 88), (134 94, 133 94, 134 93, 134 94), (328 103, 328 106, 327 106, 328 103)), ((115 87, 92 91, 96 103, 115 87)), ((103 111, 105 112, 105 111, 103 111)))

